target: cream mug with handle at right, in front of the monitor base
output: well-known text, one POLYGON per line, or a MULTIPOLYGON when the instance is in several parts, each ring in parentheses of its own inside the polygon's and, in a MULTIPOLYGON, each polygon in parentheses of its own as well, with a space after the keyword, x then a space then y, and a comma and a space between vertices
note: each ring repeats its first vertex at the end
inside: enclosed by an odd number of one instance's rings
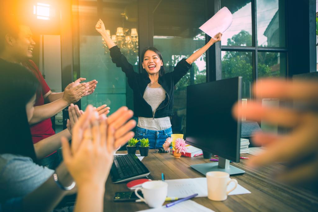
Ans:
POLYGON ((214 201, 226 200, 227 195, 238 185, 238 181, 231 179, 226 172, 208 172, 206 173, 206 180, 208 183, 208 198, 214 201), (231 182, 234 182, 235 186, 228 191, 227 187, 231 182))

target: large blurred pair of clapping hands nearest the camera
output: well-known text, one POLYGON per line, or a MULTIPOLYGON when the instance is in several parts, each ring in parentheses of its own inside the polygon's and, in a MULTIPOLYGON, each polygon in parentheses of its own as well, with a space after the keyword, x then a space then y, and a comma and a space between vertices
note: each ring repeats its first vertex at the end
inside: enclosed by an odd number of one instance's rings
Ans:
POLYGON ((113 163, 115 146, 126 143, 134 136, 130 130, 136 122, 128 121, 132 111, 122 107, 114 114, 107 119, 88 105, 73 127, 72 146, 66 138, 62 138, 64 162, 79 189, 91 184, 104 186, 113 163))

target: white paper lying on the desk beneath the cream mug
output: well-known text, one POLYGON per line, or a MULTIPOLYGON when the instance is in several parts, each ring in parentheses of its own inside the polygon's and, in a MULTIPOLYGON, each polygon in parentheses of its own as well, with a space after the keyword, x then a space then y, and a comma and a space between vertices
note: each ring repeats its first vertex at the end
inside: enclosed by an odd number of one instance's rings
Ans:
MULTIPOLYGON (((208 196, 208 185, 205 177, 200 178, 188 178, 188 179, 177 179, 177 180, 165 180, 168 183, 168 195, 178 198, 184 198, 192 194, 198 194, 196 197, 208 196)), ((228 190, 234 186, 231 183, 228 190)), ((250 194, 251 192, 246 188, 238 184, 238 186, 229 194, 250 194)))

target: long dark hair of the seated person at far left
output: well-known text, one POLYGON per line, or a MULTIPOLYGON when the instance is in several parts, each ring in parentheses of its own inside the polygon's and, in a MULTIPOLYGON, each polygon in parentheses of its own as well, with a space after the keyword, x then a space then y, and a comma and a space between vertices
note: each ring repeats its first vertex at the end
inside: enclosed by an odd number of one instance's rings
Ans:
POLYGON ((0 154, 23 155, 37 161, 26 104, 37 93, 39 81, 25 67, 0 59, 0 154))

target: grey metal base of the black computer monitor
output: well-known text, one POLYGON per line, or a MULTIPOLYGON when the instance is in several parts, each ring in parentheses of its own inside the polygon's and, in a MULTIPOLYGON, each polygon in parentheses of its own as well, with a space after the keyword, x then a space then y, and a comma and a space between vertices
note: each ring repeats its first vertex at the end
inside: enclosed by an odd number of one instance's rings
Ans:
POLYGON ((191 167, 204 175, 207 172, 211 172, 211 171, 226 172, 226 173, 229 173, 230 175, 245 173, 244 170, 239 169, 235 166, 231 166, 230 160, 222 158, 222 157, 219 157, 218 162, 196 164, 196 165, 191 165, 191 167))

